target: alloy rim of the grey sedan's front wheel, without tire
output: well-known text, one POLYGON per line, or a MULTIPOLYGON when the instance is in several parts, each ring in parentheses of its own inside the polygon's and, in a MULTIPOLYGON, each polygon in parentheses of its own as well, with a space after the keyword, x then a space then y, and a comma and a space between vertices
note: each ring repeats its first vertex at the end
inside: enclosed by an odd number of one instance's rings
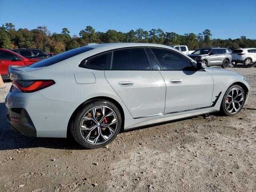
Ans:
POLYGON ((225 99, 225 108, 228 113, 236 114, 244 104, 244 93, 240 88, 232 88, 225 99))

